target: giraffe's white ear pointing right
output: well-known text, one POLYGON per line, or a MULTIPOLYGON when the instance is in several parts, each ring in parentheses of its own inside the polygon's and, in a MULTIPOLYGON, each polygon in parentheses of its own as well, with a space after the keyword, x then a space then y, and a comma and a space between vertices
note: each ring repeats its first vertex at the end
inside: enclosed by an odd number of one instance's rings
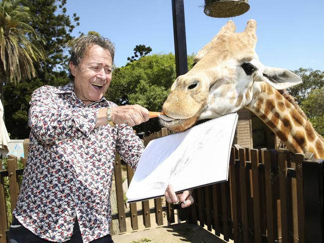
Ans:
POLYGON ((302 79, 293 72, 283 68, 265 67, 260 81, 267 82, 277 90, 288 89, 303 83, 302 79))

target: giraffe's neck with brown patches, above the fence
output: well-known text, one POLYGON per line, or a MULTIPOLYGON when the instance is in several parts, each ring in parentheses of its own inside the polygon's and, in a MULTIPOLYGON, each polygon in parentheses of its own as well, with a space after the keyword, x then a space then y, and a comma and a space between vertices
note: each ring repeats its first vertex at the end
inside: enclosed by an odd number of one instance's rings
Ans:
POLYGON ((246 106, 258 116, 294 153, 314 153, 324 158, 323 138, 314 130, 306 116, 280 92, 265 82, 255 82, 253 98, 246 106))

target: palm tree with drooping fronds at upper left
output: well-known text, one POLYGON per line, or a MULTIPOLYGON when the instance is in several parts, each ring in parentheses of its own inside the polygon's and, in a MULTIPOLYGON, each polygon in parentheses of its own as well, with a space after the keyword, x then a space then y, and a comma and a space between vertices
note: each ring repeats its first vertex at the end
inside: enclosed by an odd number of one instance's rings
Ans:
POLYGON ((34 64, 44 59, 42 39, 29 24, 33 16, 19 0, 0 1, 0 98, 2 86, 35 76, 34 64))

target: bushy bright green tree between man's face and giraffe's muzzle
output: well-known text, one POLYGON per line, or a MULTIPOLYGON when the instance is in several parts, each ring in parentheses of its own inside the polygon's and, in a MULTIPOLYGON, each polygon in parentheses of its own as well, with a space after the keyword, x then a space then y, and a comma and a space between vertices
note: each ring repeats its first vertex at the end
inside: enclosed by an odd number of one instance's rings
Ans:
MULTIPOLYGON (((116 68, 106 95, 108 100, 117 105, 139 104, 150 111, 161 111, 169 88, 176 78, 174 60, 173 54, 154 54, 116 68)), ((188 68, 192 63, 193 57, 189 56, 188 68)), ((161 126, 158 119, 151 119, 135 129, 155 132, 161 126)))

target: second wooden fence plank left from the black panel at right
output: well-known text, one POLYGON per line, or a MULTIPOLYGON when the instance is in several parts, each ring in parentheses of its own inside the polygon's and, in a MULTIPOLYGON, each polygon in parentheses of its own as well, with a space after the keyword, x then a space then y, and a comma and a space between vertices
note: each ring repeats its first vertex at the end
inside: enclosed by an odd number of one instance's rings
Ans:
POLYGON ((291 210, 289 207, 289 195, 287 185, 287 153, 280 152, 279 157, 279 183, 280 183, 280 209, 281 209, 281 235, 282 242, 293 243, 293 229, 291 223, 291 210))

